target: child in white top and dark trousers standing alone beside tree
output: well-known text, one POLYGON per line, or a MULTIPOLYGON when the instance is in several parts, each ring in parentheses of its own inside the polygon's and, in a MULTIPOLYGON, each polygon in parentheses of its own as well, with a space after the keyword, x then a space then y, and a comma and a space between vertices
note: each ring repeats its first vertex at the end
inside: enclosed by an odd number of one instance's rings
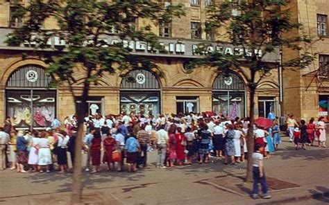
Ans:
POLYGON ((255 144, 255 152, 253 153, 253 199, 258 198, 258 183, 262 185, 263 199, 270 199, 271 195, 267 193, 267 183, 264 173, 263 154, 261 153, 264 148, 259 143, 255 144))

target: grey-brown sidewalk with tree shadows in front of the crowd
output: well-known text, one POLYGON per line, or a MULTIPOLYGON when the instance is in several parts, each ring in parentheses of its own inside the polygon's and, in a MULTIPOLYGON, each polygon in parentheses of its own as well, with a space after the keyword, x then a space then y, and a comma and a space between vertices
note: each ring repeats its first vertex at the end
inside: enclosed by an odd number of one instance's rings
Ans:
MULTIPOLYGON (((84 192, 99 199, 97 204, 296 204, 312 197, 328 197, 329 148, 294 150, 287 137, 282 140, 278 152, 264 160, 266 175, 298 187, 271 190, 272 199, 249 197, 251 184, 242 180, 246 163, 224 166, 223 158, 212 158, 213 163, 208 164, 156 169, 155 151, 149 152, 149 166, 135 173, 106 172, 105 166, 96 175, 84 172, 84 192), (229 180, 224 184, 218 179, 229 180)), ((5 170, 0 175, 0 204, 37 204, 40 199, 47 204, 63 204, 51 199, 68 197, 71 190, 71 174, 23 175, 5 170)))

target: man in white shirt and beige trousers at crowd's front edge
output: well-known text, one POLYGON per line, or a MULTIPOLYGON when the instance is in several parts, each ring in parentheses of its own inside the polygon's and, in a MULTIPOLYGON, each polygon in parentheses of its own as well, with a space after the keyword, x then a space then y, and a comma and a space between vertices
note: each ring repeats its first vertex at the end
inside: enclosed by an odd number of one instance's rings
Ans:
POLYGON ((156 132, 156 143, 158 148, 158 158, 156 161, 157 168, 166 168, 165 158, 167 145, 169 141, 168 132, 165 130, 165 125, 160 125, 160 130, 156 132))

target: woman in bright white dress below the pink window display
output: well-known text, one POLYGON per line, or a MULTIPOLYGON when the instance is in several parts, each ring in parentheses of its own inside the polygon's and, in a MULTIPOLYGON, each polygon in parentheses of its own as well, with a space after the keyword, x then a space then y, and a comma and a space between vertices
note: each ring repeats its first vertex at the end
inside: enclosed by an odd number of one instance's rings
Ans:
POLYGON ((46 168, 47 173, 50 172, 49 165, 53 162, 51 160, 51 151, 49 146, 49 139, 46 138, 47 132, 42 131, 40 133, 40 139, 37 141, 36 147, 39 151, 37 154, 37 165, 39 166, 40 172, 44 172, 44 168, 46 168))

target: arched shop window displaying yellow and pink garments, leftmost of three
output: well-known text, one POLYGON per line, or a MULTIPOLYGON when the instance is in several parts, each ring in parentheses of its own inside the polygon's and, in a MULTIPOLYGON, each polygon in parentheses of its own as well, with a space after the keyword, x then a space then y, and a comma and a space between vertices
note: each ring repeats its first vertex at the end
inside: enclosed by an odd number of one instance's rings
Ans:
POLYGON ((56 116, 56 89, 49 89, 52 80, 34 64, 11 73, 6 83, 6 114, 17 129, 51 127, 56 116))

